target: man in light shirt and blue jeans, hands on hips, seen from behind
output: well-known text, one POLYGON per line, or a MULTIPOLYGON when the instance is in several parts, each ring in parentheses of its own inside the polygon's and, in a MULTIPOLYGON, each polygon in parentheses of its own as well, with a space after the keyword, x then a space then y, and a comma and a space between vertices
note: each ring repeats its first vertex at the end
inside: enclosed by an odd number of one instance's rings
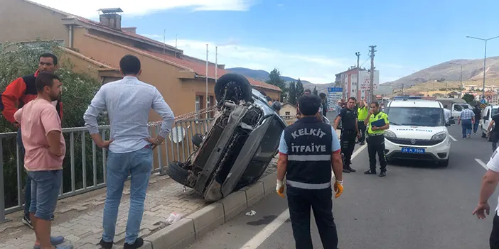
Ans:
POLYGON ((102 220, 102 248, 112 248, 119 202, 124 182, 129 175, 130 209, 124 248, 140 248, 144 240, 139 238, 144 200, 149 185, 153 150, 161 145, 170 132, 174 116, 156 87, 139 81, 141 62, 134 55, 125 55, 119 61, 123 79, 100 87, 83 118, 85 126, 100 148, 109 148, 107 155, 107 193, 102 220), (151 108, 163 118, 161 131, 156 138, 149 137, 149 111, 151 108), (107 110, 111 122, 110 140, 102 140, 97 116, 107 110))

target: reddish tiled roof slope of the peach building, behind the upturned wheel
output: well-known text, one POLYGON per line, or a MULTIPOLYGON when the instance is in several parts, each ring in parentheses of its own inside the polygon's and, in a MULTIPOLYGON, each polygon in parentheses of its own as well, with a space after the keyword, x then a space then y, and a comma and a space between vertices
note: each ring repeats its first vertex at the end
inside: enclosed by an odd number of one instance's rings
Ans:
MULTIPOLYGON (((206 64, 205 63, 195 62, 192 60, 183 60, 181 58, 173 57, 170 55, 163 55, 163 54, 160 54, 157 52, 151 52, 151 51, 146 51, 146 50, 141 50, 141 51, 146 52, 149 55, 154 55, 156 57, 160 57, 161 59, 168 60, 169 62, 173 62, 175 64, 178 64, 178 65, 181 65, 184 67, 188 67, 198 75, 205 76, 205 74, 206 74, 206 64)), ((219 68, 217 70, 217 77, 220 77, 223 74, 227 74, 227 73, 229 73, 229 71, 222 70, 219 68)), ((211 64, 208 65, 208 77, 215 79, 215 65, 211 65, 211 64)), ((252 84, 252 86, 254 86, 254 87, 262 87, 264 89, 271 89, 271 90, 275 90, 275 91, 279 91, 279 92, 281 91, 281 89, 279 87, 276 87, 272 84, 268 84, 268 83, 259 81, 257 79, 250 78, 250 77, 246 77, 246 78, 248 79, 250 84, 252 84)))

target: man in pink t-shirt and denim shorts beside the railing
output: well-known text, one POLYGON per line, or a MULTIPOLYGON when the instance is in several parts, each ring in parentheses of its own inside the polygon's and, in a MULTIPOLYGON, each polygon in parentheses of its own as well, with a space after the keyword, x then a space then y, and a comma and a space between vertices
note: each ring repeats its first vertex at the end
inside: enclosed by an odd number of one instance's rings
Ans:
MULTIPOLYGON (((50 236, 66 152, 60 116, 52 104, 60 97, 61 84, 55 74, 39 72, 33 89, 36 98, 14 114, 16 122, 21 124, 21 140, 26 150, 24 168, 31 179, 31 188, 26 192, 31 192, 29 221, 35 230, 35 249, 51 249, 64 242, 62 236, 50 236)), ((73 245, 58 248, 73 248, 73 245)))

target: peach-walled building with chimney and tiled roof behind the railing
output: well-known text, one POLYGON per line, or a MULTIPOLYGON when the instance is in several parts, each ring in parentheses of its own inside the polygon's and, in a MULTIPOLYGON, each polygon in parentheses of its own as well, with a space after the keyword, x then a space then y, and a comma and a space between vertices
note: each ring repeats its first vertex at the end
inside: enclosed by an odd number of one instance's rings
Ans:
MULTIPOLYGON (((96 8, 98 9, 98 8, 96 8)), ((121 79, 119 60, 135 55, 142 63, 140 79, 154 85, 176 115, 203 109, 215 103, 215 78, 227 73, 215 65, 190 57, 170 45, 136 34, 135 27, 122 27, 121 9, 100 9, 100 22, 65 13, 28 0, 4 0, 0 8, 0 43, 11 41, 36 45, 36 40, 55 40, 76 70, 89 70, 102 83, 121 79), (22 13, 22 18, 19 18, 22 13), (205 97, 208 77, 208 98, 205 97)), ((62 58, 61 58, 62 59, 62 58)), ((62 61, 62 60, 61 60, 62 61)), ((254 89, 280 99, 280 89, 248 78, 254 89)), ((154 112, 152 120, 159 120, 154 112)))

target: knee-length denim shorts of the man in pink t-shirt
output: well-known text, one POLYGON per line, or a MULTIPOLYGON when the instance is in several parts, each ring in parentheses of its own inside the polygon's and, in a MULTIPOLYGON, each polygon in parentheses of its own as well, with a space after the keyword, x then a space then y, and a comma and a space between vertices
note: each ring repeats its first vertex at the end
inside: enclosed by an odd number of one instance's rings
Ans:
POLYGON ((36 218, 50 221, 63 183, 63 170, 28 171, 31 178, 31 205, 29 212, 36 218))

